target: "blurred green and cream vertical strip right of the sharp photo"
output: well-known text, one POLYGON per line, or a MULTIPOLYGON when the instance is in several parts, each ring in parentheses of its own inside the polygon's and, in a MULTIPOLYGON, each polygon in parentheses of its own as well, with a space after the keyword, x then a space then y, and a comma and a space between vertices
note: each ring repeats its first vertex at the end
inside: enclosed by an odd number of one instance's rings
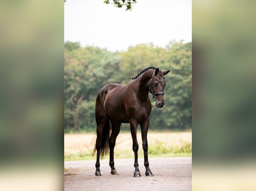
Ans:
POLYGON ((254 190, 255 1, 193 0, 193 190, 254 190))

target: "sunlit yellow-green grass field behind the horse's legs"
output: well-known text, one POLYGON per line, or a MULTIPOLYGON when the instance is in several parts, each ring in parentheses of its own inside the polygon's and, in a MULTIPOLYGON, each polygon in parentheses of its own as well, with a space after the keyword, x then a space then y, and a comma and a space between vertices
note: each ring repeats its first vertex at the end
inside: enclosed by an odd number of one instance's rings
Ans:
MULTIPOLYGON (((192 132, 148 132, 149 157, 192 156, 192 132)), ((138 130, 138 157, 143 158, 141 134, 138 130)), ((64 160, 96 159, 92 156, 96 133, 65 133, 64 160)), ((120 132, 116 139, 115 158, 134 158, 130 132, 120 132)), ((106 156, 109 158, 109 155, 106 156)))

